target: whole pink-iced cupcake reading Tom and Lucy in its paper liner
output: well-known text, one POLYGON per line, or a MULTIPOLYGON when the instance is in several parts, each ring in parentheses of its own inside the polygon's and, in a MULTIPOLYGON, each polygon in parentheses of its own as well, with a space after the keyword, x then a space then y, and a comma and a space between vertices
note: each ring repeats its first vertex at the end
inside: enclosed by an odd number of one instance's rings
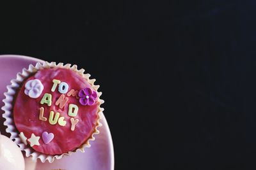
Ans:
POLYGON ((76 65, 38 62, 7 87, 4 125, 27 157, 53 162, 84 152, 99 134, 104 101, 99 99, 99 85, 83 72, 76 65))

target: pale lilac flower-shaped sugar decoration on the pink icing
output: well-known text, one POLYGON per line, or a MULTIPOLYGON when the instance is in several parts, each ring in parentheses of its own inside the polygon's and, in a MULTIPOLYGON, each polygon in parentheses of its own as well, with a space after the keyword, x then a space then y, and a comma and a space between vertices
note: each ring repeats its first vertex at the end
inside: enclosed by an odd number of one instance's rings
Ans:
POLYGON ((38 79, 35 79, 35 80, 29 80, 25 84, 24 93, 29 97, 36 99, 42 94, 43 90, 44 90, 44 85, 42 84, 42 82, 38 79))

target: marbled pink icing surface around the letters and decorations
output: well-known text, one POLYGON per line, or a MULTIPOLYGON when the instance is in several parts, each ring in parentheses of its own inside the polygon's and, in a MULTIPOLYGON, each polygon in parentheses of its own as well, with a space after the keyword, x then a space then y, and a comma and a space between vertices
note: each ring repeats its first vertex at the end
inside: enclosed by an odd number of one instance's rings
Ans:
POLYGON ((69 69, 54 68, 54 69, 42 69, 38 71, 35 75, 31 76, 26 80, 17 94, 15 99, 15 104, 13 107, 13 118, 17 130, 19 132, 24 132, 24 135, 29 139, 31 134, 34 133, 36 136, 40 136, 39 143, 40 146, 34 145, 32 148, 37 152, 42 152, 49 155, 58 155, 61 153, 67 153, 68 151, 76 150, 83 143, 86 143, 88 138, 91 137, 92 133, 95 131, 95 126, 97 125, 97 111, 99 108, 99 101, 95 100, 92 106, 83 106, 79 103, 79 99, 76 97, 68 97, 68 102, 61 109, 56 106, 56 100, 61 96, 58 92, 58 88, 54 92, 51 92, 52 80, 60 80, 68 83, 68 92, 71 89, 81 90, 85 88, 92 89, 92 86, 79 74, 71 71, 69 69), (42 81, 44 85, 44 90, 42 94, 33 99, 24 93, 24 86, 26 81, 38 79, 42 81), (52 95, 52 104, 47 106, 47 104, 40 104, 40 101, 45 93, 52 95), (79 107, 79 111, 74 118, 78 118, 79 122, 76 124, 74 131, 71 131, 70 116, 68 116, 68 104, 76 104, 79 107), (40 108, 44 107, 44 117, 47 121, 39 120, 40 108), (57 111, 60 113, 60 117, 65 117, 67 124, 61 126, 58 123, 56 125, 49 124, 49 113, 50 111, 57 111), (42 139, 42 133, 49 132, 54 134, 54 138, 48 144, 45 144, 42 139))

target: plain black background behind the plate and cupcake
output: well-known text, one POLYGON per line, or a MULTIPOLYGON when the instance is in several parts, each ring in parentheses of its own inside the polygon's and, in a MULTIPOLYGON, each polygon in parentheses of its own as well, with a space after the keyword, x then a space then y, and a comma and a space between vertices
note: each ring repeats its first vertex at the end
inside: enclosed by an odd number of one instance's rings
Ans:
POLYGON ((0 54, 92 74, 117 170, 253 169, 255 8, 255 1, 10 1, 0 5, 0 54))

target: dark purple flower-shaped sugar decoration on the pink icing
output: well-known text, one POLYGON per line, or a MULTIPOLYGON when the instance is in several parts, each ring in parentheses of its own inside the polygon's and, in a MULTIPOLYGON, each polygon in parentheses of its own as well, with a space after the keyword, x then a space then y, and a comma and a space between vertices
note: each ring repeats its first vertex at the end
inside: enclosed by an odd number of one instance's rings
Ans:
POLYGON ((86 106, 92 106, 97 98, 97 92, 90 88, 85 88, 79 91, 78 96, 80 97, 79 103, 86 106))

